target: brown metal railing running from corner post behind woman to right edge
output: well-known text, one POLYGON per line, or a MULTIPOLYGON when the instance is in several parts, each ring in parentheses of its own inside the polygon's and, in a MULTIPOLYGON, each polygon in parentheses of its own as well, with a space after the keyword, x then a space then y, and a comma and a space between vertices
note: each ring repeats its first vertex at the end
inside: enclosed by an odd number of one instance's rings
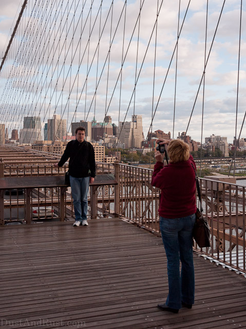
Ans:
MULTIPOLYGON (((121 217, 160 234, 159 189, 150 184, 153 170, 119 165, 121 217)), ((226 176, 222 176, 223 180, 226 176)), ((216 178, 215 178, 216 179, 216 178)), ((246 271, 245 188, 237 184, 200 178, 203 214, 211 226, 211 248, 194 249, 232 268, 246 271)), ((197 197, 197 206, 198 206, 197 197)))

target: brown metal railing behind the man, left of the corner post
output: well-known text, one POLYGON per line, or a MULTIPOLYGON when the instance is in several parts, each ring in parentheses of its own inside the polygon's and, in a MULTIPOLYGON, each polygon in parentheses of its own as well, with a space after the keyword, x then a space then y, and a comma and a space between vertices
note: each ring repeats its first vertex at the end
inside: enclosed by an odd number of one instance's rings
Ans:
MULTIPOLYGON (((3 167, 4 163, 1 162, 3 167)), ((4 166, 1 169, 1 175, 4 178, 23 178, 23 177, 47 177, 47 176, 64 176, 68 170, 68 166, 62 168, 54 168, 52 165, 40 166, 4 166)), ((98 163, 97 176, 115 173, 115 166, 112 163, 98 163)), ((44 178, 45 179, 45 178, 44 178)), ((41 182, 42 184, 42 182, 41 182)), ((71 197, 71 189, 67 188, 64 198, 64 210, 61 208, 61 191, 58 187, 51 188, 33 188, 27 193, 27 188, 21 189, 4 189, 2 194, 4 208, 2 210, 0 222, 1 224, 9 224, 14 222, 30 222, 31 212, 32 221, 61 220, 63 212, 66 218, 74 217, 73 203, 71 197), (30 209, 26 204, 30 204, 30 209), (61 216, 62 213, 62 216, 61 216)), ((100 218, 115 216, 117 211, 117 202, 115 185, 104 182, 102 185, 93 186, 89 189, 88 195, 88 217, 100 218), (93 204, 93 208, 92 208, 93 204)), ((118 213, 118 211, 117 211, 118 213)))

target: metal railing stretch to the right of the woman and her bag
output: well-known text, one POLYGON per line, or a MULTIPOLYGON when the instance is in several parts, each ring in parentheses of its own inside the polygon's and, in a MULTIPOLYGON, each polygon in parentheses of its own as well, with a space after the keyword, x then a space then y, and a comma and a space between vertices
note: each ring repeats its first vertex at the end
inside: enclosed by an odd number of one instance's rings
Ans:
POLYGON ((200 186, 203 212, 211 227, 211 248, 203 252, 245 271, 245 187, 206 178, 200 179, 200 186))

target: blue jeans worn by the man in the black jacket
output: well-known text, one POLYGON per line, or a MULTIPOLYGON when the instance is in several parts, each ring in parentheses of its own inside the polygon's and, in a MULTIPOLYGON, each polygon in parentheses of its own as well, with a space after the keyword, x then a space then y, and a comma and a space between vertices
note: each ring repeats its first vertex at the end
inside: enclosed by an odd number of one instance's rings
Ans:
POLYGON ((87 194, 89 190, 89 181, 90 177, 76 178, 70 176, 75 221, 82 222, 86 220, 88 208, 87 194))

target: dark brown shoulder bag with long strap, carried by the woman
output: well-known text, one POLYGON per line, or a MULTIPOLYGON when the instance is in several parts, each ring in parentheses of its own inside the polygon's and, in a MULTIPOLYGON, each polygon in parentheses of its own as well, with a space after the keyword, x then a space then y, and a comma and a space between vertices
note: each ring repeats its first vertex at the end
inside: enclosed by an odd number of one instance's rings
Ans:
POLYGON ((202 214, 202 202, 201 202, 201 191, 198 176, 195 170, 195 167, 192 164, 192 167, 195 171, 197 193, 200 201, 200 209, 197 208, 196 211, 196 222, 193 228, 193 237, 200 248, 210 247, 210 226, 206 218, 202 214))

